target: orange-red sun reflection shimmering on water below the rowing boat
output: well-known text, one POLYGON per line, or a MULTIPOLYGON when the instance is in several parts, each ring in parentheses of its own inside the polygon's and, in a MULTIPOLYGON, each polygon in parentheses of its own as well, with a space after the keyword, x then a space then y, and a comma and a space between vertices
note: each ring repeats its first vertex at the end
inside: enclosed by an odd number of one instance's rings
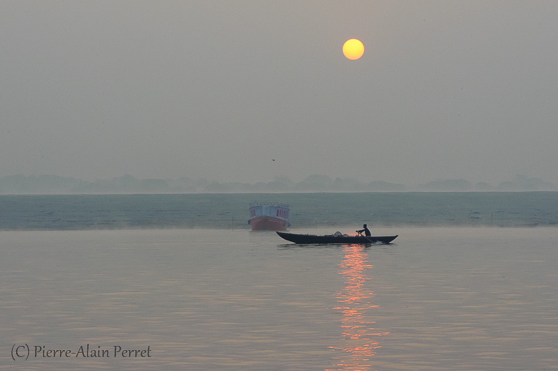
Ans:
POLYGON ((345 245, 345 257, 339 264, 340 274, 345 276, 345 287, 338 294, 339 306, 333 308, 342 313, 341 339, 345 347, 331 347, 338 354, 334 368, 325 371, 369 371, 375 349, 381 347, 378 338, 387 333, 378 333, 370 321, 370 308, 374 293, 365 285, 370 278, 366 275, 372 264, 368 263, 368 254, 362 245, 345 245))

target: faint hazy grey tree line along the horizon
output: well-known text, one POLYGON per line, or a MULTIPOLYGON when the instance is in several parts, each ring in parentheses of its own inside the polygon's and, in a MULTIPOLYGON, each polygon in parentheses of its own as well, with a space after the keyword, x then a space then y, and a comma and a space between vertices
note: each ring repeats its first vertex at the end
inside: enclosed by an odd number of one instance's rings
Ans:
POLYGON ((131 175, 98 181, 84 181, 56 175, 13 175, 0 178, 0 194, 103 194, 103 193, 263 193, 263 192, 525 192, 556 191, 558 186, 518 175, 496 186, 471 183, 465 179, 445 179, 418 185, 402 185, 385 181, 361 182, 356 179, 332 179, 313 174, 294 182, 287 176, 276 176, 270 182, 227 183, 207 179, 137 179, 131 175))

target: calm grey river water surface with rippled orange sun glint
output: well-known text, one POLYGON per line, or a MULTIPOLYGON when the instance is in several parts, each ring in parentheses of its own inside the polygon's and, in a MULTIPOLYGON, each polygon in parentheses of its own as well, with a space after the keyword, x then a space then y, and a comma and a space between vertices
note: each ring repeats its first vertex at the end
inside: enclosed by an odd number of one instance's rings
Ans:
POLYGON ((0 232, 0 370, 558 369, 557 228, 372 233, 400 237, 0 232), (88 344, 108 356, 81 356, 88 344))

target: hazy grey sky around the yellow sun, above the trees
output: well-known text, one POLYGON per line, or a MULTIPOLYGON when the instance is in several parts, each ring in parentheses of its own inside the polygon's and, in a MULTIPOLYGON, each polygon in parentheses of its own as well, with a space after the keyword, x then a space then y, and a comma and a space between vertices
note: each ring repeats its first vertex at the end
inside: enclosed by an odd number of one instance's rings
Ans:
POLYGON ((558 183, 558 1, 0 9, 0 176, 558 183))

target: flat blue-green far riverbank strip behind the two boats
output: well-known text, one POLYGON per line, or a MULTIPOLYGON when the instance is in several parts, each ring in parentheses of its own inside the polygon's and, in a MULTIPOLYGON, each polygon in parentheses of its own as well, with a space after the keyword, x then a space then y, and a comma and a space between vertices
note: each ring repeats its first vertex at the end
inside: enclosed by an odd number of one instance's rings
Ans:
POLYGON ((0 195, 0 229, 248 229, 252 201, 287 202, 293 228, 558 225, 558 192, 320 192, 0 195))

